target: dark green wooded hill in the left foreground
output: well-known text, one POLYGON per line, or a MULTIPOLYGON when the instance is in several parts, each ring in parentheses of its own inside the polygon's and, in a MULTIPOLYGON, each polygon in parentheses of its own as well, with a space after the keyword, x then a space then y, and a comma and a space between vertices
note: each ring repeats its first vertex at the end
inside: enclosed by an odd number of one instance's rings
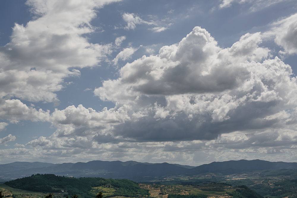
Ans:
POLYGON ((92 187, 105 186, 110 184, 116 189, 108 197, 124 196, 137 197, 140 195, 149 195, 149 191, 141 189, 138 183, 127 179, 105 179, 105 178, 69 178, 56 176, 53 174, 36 174, 31 177, 25 177, 5 183, 7 186, 16 189, 23 189, 35 192, 61 192, 67 191, 69 196, 79 195, 80 198, 92 198, 92 187))

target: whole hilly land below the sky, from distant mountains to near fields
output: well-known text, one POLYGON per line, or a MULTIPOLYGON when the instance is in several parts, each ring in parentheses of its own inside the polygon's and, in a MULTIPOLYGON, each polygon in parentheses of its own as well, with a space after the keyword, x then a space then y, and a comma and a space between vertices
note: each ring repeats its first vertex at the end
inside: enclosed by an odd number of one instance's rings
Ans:
POLYGON ((214 197, 236 191, 238 186, 247 186, 263 197, 283 198, 297 195, 295 167, 296 163, 262 160, 213 162, 198 167, 135 161, 90 161, 75 164, 15 162, 0 165, 3 168, 0 169, 0 178, 2 183, 13 180, 1 184, 1 188, 5 193, 11 191, 10 194, 16 197, 37 198, 51 192, 55 194, 55 198, 74 194, 81 198, 93 198, 100 191, 107 197, 168 198, 168 194, 204 194, 214 197), (46 167, 42 167, 43 165, 46 167), (224 169, 226 167, 229 168, 224 169))

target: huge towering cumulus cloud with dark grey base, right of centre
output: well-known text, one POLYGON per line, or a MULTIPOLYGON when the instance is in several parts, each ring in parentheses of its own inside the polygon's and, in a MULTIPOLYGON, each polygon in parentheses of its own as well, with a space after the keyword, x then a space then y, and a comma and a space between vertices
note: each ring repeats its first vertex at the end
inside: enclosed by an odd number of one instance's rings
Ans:
POLYGON ((245 34, 232 47, 220 48, 195 27, 177 45, 126 64, 118 79, 104 81, 94 93, 129 105, 131 117, 141 114, 115 128, 128 139, 214 139, 270 127, 268 116, 296 106, 297 84, 289 65, 267 59, 270 50, 259 47, 261 42, 260 33, 245 34))

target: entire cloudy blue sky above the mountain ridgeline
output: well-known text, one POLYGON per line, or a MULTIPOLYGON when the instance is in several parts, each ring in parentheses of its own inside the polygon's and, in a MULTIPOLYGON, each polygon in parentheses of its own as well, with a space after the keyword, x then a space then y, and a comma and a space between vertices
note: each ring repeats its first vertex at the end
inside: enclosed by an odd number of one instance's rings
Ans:
POLYGON ((295 0, 0 1, 0 164, 297 161, 295 0))

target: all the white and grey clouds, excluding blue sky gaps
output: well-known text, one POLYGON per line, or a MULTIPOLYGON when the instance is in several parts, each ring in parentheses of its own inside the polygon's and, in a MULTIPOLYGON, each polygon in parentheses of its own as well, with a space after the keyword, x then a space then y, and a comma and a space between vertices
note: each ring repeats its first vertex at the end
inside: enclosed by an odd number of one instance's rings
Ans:
MULTIPOLYGON (((21 120, 49 122, 56 131, 15 143, 17 148, 1 150, 1 158, 192 165, 256 155, 297 159, 296 77, 262 44, 273 40, 282 48, 279 57, 296 54, 297 14, 271 23, 269 31, 244 34, 228 48, 197 26, 158 54, 119 68, 119 60, 131 59, 139 49, 132 44, 121 48, 126 36, 104 45, 85 37, 96 30, 91 20, 97 9, 111 2, 27 1, 34 20, 15 24, 11 42, 0 47, 0 131, 21 120), (118 76, 94 89, 114 108, 98 111, 80 104, 50 112, 22 102, 59 103, 56 92, 67 85, 66 77, 80 76, 80 68, 97 66, 117 50, 107 62, 117 65, 118 76)), ((235 2, 241 1, 224 0, 221 8, 235 2)), ((125 30, 143 24, 160 32, 170 26, 128 12, 122 18, 125 30)), ((17 140, 4 136, 0 145, 17 140)))

